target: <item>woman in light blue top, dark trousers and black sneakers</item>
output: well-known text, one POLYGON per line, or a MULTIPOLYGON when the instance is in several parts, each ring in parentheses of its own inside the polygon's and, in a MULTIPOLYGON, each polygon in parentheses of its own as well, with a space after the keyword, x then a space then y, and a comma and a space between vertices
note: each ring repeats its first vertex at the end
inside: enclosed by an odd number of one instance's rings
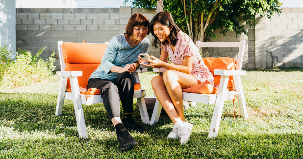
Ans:
POLYGON ((134 78, 130 73, 139 67, 137 56, 148 51, 149 40, 145 37, 149 34, 149 21, 144 15, 135 13, 129 18, 125 30, 126 33, 109 41, 100 66, 92 73, 87 85, 88 89, 101 90, 104 107, 109 121, 115 126, 122 150, 138 145, 126 129, 144 131, 132 118, 134 78), (120 100, 125 116, 123 124, 120 100))

